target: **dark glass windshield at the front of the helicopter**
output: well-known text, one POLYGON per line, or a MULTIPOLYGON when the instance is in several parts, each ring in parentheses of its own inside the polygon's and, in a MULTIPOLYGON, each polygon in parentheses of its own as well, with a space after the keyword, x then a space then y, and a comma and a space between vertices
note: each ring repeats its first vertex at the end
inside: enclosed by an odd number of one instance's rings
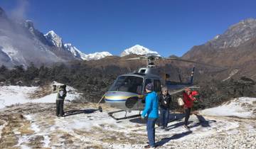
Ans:
POLYGON ((120 76, 114 82, 110 91, 123 91, 142 94, 142 77, 135 76, 120 76))

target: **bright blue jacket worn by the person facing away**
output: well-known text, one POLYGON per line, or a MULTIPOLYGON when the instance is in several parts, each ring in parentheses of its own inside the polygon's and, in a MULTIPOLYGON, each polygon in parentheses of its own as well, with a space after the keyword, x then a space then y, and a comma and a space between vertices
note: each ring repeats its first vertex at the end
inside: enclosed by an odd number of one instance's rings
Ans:
POLYGON ((150 92, 146 95, 146 105, 144 111, 142 112, 142 116, 148 116, 149 118, 158 118, 158 103, 159 99, 156 92, 150 92))

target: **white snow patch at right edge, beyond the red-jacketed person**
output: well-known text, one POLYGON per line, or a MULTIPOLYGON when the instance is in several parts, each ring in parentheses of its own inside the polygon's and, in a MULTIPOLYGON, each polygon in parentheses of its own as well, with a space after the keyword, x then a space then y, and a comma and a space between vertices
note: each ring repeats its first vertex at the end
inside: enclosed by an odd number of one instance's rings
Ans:
POLYGON ((255 101, 256 98, 241 97, 228 101, 221 106, 200 111, 200 114, 209 116, 238 116, 240 118, 256 118, 255 114, 253 114, 253 110, 256 109, 256 107, 253 106, 253 102, 255 101))

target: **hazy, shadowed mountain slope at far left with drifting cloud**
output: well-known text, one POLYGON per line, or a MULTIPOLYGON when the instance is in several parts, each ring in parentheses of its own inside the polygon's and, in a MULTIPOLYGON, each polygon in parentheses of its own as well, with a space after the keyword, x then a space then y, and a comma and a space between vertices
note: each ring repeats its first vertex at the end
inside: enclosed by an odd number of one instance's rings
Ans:
MULTIPOLYGON (((0 65, 28 66, 70 60, 68 53, 56 55, 43 33, 36 30, 32 21, 16 21, 8 18, 0 8, 0 65)), ((70 56, 69 56, 70 57, 70 56)), ((73 58, 74 59, 74 58, 73 58)))

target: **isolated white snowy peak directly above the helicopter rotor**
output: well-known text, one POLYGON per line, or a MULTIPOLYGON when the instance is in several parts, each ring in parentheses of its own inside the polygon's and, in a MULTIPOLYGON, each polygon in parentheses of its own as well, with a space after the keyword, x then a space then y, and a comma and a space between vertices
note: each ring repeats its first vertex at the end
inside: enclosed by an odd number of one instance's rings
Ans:
POLYGON ((159 53, 157 53, 156 51, 149 50, 148 48, 145 48, 142 45, 134 45, 131 48, 125 49, 121 53, 121 57, 126 56, 126 55, 130 55, 130 54, 146 55, 146 54, 149 54, 149 53, 154 53, 154 54, 159 55, 159 53))

